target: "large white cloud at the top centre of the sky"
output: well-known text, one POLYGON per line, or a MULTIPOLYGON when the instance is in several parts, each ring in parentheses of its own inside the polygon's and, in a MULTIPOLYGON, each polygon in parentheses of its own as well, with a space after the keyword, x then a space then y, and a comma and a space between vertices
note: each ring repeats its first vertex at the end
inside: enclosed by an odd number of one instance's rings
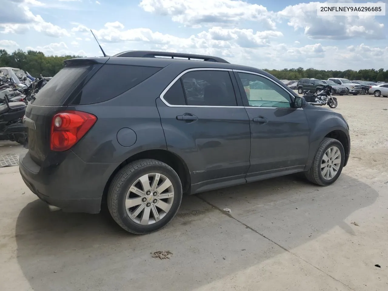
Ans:
POLYGON ((250 20, 261 21, 269 29, 275 29, 273 12, 242 0, 141 0, 139 6, 147 12, 168 15, 186 26, 224 26, 250 20))

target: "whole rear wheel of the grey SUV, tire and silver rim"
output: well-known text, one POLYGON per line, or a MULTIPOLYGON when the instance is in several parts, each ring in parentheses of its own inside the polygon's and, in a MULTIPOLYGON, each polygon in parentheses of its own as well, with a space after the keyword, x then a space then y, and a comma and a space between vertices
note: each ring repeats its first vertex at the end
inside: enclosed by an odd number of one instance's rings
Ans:
POLYGON ((141 159, 123 167, 107 195, 113 219, 133 234, 149 234, 164 227, 177 214, 181 201, 178 174, 155 159, 141 159))

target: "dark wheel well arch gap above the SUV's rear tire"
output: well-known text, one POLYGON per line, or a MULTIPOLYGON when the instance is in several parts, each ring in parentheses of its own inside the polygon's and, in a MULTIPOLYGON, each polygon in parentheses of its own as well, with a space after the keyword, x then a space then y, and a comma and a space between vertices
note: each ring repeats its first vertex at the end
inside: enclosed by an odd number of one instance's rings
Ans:
POLYGON ((130 156, 128 159, 123 161, 111 174, 109 179, 106 182, 106 185, 104 187, 104 192, 102 193, 102 199, 101 203, 106 202, 106 197, 109 190, 109 185, 111 184, 114 176, 118 171, 120 171, 121 168, 123 168, 125 165, 128 165, 129 163, 139 160, 139 159, 156 159, 158 161, 161 161, 163 163, 166 163, 171 168, 174 169, 174 171, 177 172, 181 182, 182 182, 182 190, 183 193, 187 193, 190 191, 191 187, 191 178, 190 178, 190 171, 187 167, 186 163, 183 161, 182 158, 174 154, 173 152, 166 151, 163 149, 154 149, 154 150, 148 150, 148 151, 142 151, 138 152, 137 154, 134 154, 133 156, 130 156))

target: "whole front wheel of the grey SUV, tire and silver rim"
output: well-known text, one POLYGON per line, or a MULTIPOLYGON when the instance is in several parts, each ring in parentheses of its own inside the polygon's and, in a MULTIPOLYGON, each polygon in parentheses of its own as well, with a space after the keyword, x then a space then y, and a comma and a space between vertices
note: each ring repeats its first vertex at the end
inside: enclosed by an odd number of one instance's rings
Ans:
POLYGON ((343 145, 336 139, 325 137, 319 145, 310 170, 305 172, 305 176, 314 184, 331 185, 340 177, 344 162, 343 145))

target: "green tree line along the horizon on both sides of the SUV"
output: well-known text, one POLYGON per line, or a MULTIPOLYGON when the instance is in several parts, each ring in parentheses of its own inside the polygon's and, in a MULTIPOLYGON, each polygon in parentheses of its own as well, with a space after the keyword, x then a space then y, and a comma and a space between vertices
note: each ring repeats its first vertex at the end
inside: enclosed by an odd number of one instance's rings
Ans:
MULTIPOLYGON (((28 71, 33 77, 38 77, 42 74, 45 77, 52 77, 60 69, 63 68, 63 61, 79 57, 76 55, 46 56, 43 52, 35 50, 15 50, 9 54, 6 50, 0 50, 0 67, 12 67, 28 71)), ((280 80, 299 80, 300 78, 315 78, 327 80, 328 78, 345 78, 349 80, 365 80, 365 81, 385 81, 388 82, 388 70, 384 69, 362 69, 359 71, 325 71, 316 70, 314 68, 303 69, 282 69, 269 70, 264 69, 268 73, 274 75, 280 80)))

